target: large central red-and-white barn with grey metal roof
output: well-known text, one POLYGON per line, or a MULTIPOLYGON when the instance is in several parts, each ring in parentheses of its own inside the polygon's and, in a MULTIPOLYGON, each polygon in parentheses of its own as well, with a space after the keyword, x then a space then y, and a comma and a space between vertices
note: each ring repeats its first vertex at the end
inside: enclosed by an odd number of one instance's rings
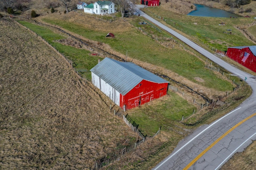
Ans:
POLYGON ((168 81, 134 63, 105 58, 90 71, 92 83, 124 111, 167 94, 168 81))

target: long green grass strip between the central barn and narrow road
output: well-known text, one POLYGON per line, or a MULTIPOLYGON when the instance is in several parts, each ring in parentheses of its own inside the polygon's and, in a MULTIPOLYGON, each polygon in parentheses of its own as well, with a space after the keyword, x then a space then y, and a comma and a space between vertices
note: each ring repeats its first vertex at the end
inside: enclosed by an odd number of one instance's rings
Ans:
MULTIPOLYGON (((188 53, 187 51, 184 51, 181 48, 166 48, 152 39, 152 37, 147 36, 139 29, 136 29, 136 27, 128 22, 96 22, 94 21, 96 19, 93 16, 88 16, 86 14, 79 15, 76 13, 70 13, 68 15, 70 15, 70 17, 47 16, 42 18, 42 20, 53 25, 59 25, 64 29, 67 29, 78 35, 82 35, 88 39, 92 39, 100 43, 106 43, 110 45, 112 49, 124 55, 126 55, 127 52, 130 58, 135 58, 146 63, 161 66, 176 72, 177 74, 187 78, 188 80, 191 80, 192 82, 196 82, 195 77, 200 77, 204 79, 204 82, 196 83, 201 84, 207 88, 213 88, 220 91, 232 90, 232 85, 228 81, 217 78, 212 71, 205 69, 204 62, 198 59, 198 57, 188 53), (68 19, 72 17, 80 18, 80 22, 74 19, 68 19), (104 26, 105 23, 107 26, 104 26), (122 24, 124 25, 123 29, 121 26, 117 26, 122 24), (94 29, 92 25, 94 25, 94 27, 97 29, 94 29), (107 29, 108 27, 110 27, 110 29, 107 29), (105 38, 106 34, 110 31, 114 33, 114 39, 105 38)), ((154 27, 150 27, 150 25, 147 26, 148 29, 155 31, 154 27)))

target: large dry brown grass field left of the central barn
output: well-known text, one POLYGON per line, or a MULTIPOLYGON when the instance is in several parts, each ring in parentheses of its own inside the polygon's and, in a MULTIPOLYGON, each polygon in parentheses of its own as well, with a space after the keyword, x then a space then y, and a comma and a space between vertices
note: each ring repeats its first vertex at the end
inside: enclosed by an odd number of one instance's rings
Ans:
POLYGON ((90 169, 136 140, 110 101, 35 35, 5 18, 0 35, 1 169, 90 169))

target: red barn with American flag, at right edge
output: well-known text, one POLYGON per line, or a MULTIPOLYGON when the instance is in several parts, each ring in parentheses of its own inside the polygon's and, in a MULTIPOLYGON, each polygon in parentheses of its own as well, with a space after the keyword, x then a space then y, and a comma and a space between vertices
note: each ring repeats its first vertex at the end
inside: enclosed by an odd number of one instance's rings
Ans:
POLYGON ((228 47, 226 56, 256 72, 256 45, 228 47))

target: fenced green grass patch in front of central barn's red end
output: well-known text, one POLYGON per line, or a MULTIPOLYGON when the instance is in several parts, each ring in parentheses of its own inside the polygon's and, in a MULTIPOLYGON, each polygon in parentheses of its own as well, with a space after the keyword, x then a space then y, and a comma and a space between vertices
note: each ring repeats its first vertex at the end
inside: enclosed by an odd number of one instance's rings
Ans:
POLYGON ((139 129, 143 134, 154 135, 162 126, 163 131, 169 131, 174 126, 173 122, 179 122, 182 115, 187 117, 196 111, 193 104, 188 103, 184 98, 174 92, 168 92, 164 100, 152 104, 145 104, 132 111, 127 111, 133 121, 139 124, 139 129))

